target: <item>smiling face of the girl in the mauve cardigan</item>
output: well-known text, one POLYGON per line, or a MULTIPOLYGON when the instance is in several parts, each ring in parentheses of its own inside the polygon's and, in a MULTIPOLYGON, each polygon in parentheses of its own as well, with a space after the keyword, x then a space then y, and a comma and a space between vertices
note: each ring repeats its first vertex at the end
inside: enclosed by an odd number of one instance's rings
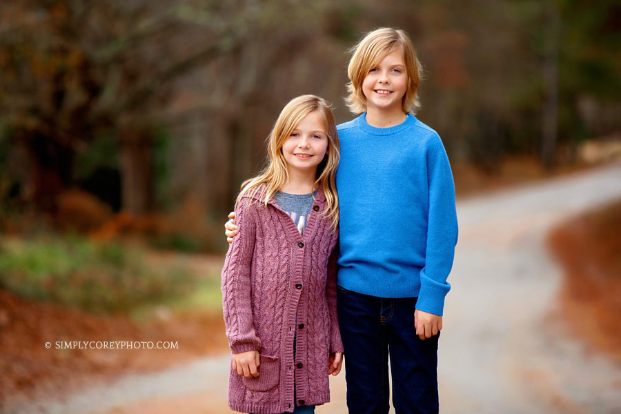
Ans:
POLYGON ((317 112, 311 112, 297 124, 282 146, 287 170, 315 175, 328 150, 328 135, 317 112))

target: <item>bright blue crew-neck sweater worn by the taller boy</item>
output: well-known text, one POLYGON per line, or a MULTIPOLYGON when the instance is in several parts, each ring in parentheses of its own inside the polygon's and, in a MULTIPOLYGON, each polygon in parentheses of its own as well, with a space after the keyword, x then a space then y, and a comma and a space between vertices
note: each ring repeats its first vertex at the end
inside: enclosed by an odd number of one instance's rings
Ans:
POLYGON ((418 309, 442 315, 457 213, 440 137, 413 115, 375 128, 365 113, 338 131, 337 283, 365 295, 418 297, 418 309))

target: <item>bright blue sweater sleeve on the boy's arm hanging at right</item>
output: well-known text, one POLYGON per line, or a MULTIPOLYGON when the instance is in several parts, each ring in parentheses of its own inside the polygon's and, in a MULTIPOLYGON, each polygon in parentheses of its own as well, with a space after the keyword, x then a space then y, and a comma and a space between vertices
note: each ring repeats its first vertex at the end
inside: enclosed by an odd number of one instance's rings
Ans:
POLYGON ((420 272, 420 294, 416 308, 442 315, 444 297, 451 285, 451 273, 457 244, 457 211, 455 184, 446 150, 437 137, 427 155, 429 210, 425 266, 420 272))

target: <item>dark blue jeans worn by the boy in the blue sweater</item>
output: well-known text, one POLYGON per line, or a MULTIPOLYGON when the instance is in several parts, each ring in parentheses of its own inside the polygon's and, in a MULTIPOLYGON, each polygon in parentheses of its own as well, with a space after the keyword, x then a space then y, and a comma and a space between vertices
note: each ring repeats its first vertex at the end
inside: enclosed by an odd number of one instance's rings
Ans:
POLYGON ((437 413, 437 340, 414 328, 416 297, 382 298, 337 288, 350 414, 387 414, 388 353, 397 414, 437 413))

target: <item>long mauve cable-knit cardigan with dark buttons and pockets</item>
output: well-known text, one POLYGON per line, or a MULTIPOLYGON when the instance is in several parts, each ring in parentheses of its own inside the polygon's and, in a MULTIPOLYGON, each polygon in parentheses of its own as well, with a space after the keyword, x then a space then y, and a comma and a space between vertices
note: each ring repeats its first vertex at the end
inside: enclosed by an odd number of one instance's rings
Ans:
POLYGON ((304 235, 274 199, 266 208, 257 193, 255 202, 244 197, 235 209, 239 235, 226 254, 221 288, 231 351, 258 350, 259 377, 242 377, 231 364, 228 405, 244 413, 292 412, 295 405, 330 401, 328 355, 343 351, 338 234, 320 215, 326 208, 321 188, 304 235))

